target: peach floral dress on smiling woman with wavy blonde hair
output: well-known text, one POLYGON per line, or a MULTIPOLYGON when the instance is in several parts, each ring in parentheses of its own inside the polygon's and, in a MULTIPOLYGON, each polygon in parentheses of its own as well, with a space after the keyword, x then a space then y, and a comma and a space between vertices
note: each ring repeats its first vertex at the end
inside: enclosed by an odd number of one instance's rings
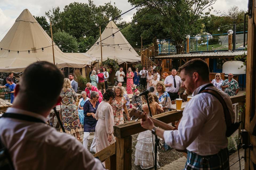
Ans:
POLYGON ((112 102, 115 125, 121 125, 124 123, 123 104, 125 104, 125 96, 122 96, 122 99, 119 103, 117 103, 116 100, 113 100, 112 102))

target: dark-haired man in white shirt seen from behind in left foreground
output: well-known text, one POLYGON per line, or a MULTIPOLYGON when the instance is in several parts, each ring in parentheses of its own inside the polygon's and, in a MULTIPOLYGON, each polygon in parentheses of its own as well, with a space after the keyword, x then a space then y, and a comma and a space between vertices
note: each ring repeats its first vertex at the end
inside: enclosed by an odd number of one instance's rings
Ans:
POLYGON ((62 74, 52 63, 36 62, 24 71, 12 107, 0 118, 0 137, 14 169, 104 169, 73 135, 45 124, 51 109, 62 100, 62 86, 62 74), (34 81, 37 76, 40 79, 34 81), (49 79, 54 86, 35 95, 49 79))

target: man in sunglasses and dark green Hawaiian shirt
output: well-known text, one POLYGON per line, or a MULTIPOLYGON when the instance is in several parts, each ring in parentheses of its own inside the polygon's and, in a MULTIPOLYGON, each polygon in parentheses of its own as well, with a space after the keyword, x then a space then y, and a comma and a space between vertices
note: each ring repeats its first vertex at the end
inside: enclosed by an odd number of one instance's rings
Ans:
POLYGON ((228 74, 228 79, 224 80, 221 86, 222 89, 224 89, 224 92, 228 94, 229 96, 235 96, 237 95, 239 91, 239 85, 237 80, 233 79, 233 74, 228 74))

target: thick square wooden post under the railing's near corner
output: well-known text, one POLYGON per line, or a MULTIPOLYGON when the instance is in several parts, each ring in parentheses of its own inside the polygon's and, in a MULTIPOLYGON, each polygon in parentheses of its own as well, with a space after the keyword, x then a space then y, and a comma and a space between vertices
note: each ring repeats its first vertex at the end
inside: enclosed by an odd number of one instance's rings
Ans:
POLYGON ((131 136, 125 138, 117 138, 116 141, 116 156, 117 170, 131 170, 131 136))

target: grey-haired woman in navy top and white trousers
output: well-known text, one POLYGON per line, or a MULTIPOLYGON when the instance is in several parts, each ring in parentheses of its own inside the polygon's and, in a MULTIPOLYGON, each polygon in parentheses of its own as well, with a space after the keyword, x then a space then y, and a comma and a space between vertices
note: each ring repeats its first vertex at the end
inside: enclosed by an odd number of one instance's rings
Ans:
MULTIPOLYGON (((83 105, 83 114, 85 116, 83 120, 83 146, 87 149, 90 132, 95 132, 95 126, 97 124, 97 120, 95 119, 95 113, 97 111, 99 105, 99 93, 96 91, 92 91, 90 95, 90 99, 85 102, 83 105)), ((96 139, 95 135, 93 138, 93 143, 90 147, 90 152, 96 152, 96 139)))

